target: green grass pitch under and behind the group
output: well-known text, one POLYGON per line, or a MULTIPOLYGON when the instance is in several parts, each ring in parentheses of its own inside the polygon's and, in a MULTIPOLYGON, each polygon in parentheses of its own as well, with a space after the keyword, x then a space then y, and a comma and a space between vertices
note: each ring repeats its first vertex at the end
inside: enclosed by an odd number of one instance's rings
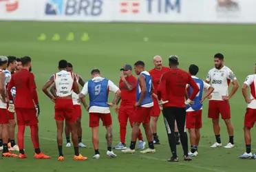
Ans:
MULTIPOLYGON (((86 39, 87 40, 87 39, 86 39)), ((65 161, 58 162, 56 147, 56 127, 54 105, 41 92, 43 83, 57 71, 57 62, 62 58, 74 65, 74 70, 88 80, 92 68, 98 67, 103 76, 118 84, 119 69, 124 63, 134 64, 142 60, 146 68, 153 67, 152 58, 159 54, 167 65, 168 56, 180 56, 180 67, 187 69, 191 63, 200 67, 198 76, 205 78, 213 67, 213 54, 222 52, 226 65, 235 72, 240 85, 248 74, 253 73, 256 54, 256 25, 186 25, 186 24, 140 24, 140 23, 45 23, 45 22, 0 22, 0 54, 32 56, 32 68, 41 105, 40 141, 41 149, 52 155, 52 160, 34 160, 33 148, 26 131, 25 150, 28 159, 0 159, 0 171, 255 171, 255 160, 239 160, 237 156, 244 152, 243 121, 246 104, 241 88, 231 100, 232 121, 235 125, 235 149, 210 149, 215 141, 211 120, 207 118, 208 103, 204 103, 202 141, 200 155, 192 162, 180 160, 177 164, 167 162, 171 151, 167 142, 162 116, 158 123, 158 133, 162 144, 156 146, 155 154, 124 155, 116 151, 118 158, 109 159, 105 129, 100 128, 100 160, 92 160, 91 133, 88 127, 88 114, 83 110, 83 142, 87 149, 81 153, 89 157, 85 162, 72 160, 73 149, 64 149, 65 161), (73 32, 74 41, 67 41, 67 35, 73 32), (38 41, 41 33, 45 41, 38 41), (87 33, 89 41, 81 41, 87 33), (52 36, 59 34, 58 41, 52 36)), ((119 141, 117 115, 112 111, 114 144, 119 141)), ((228 142, 224 122, 221 122, 223 144, 228 142)), ((256 151, 256 132, 253 129, 252 147, 256 151)), ((131 136, 128 126, 127 144, 131 136)), ((144 134, 145 136, 145 134, 144 134)), ((65 143, 65 140, 64 140, 65 143)), ((178 147, 182 157, 182 149, 178 147)), ((182 158, 181 158, 182 159, 182 158)))

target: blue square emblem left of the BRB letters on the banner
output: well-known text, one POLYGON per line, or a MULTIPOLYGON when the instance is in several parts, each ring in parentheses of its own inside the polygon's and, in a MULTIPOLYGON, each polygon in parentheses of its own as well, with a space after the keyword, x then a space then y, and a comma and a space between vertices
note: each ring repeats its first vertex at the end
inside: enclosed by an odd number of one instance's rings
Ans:
POLYGON ((45 14, 62 14, 63 13, 63 0, 49 0, 46 3, 45 14))

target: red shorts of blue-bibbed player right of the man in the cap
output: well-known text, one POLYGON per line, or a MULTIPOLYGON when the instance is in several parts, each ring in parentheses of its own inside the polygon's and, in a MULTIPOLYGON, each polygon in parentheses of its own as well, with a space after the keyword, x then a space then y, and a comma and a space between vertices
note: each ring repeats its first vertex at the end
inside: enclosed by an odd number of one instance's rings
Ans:
POLYGON ((149 124, 152 109, 153 107, 137 107, 135 110, 134 122, 149 124))

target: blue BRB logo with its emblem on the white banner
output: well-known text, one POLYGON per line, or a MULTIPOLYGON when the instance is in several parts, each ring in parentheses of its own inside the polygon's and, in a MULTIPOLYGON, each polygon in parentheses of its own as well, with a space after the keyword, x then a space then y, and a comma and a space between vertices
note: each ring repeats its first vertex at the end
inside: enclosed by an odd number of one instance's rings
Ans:
POLYGON ((102 13, 102 8, 103 0, 48 0, 45 6, 45 14, 99 16, 102 13))

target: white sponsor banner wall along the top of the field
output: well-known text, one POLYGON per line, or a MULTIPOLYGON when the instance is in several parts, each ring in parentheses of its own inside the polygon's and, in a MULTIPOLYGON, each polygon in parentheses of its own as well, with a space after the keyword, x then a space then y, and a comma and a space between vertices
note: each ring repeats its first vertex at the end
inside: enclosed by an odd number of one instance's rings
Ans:
POLYGON ((0 20, 256 23, 255 0, 0 0, 0 20))

